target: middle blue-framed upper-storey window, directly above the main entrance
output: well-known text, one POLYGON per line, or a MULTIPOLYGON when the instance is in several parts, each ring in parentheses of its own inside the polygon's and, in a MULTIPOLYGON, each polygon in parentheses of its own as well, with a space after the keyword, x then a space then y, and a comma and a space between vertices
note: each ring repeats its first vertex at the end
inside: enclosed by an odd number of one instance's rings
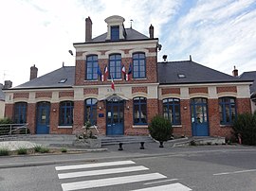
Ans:
POLYGON ((109 78, 121 78, 121 55, 115 54, 109 56, 109 78))

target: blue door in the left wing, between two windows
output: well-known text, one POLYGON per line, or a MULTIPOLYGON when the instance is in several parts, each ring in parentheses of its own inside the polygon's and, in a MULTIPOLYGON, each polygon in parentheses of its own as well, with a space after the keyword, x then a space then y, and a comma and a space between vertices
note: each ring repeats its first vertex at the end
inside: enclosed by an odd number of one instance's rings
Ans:
POLYGON ((36 133, 48 134, 49 133, 49 102, 39 102, 37 104, 37 122, 36 133))

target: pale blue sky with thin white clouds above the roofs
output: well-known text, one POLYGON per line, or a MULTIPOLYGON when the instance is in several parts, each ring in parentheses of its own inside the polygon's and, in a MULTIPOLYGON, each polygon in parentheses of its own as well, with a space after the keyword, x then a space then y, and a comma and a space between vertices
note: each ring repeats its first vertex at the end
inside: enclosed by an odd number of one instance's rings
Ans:
POLYGON ((256 71, 255 0, 0 0, 0 83, 17 86, 64 65, 74 66, 73 43, 85 41, 90 16, 93 38, 106 32, 104 19, 119 15, 162 44, 158 61, 192 61, 231 75, 256 71))

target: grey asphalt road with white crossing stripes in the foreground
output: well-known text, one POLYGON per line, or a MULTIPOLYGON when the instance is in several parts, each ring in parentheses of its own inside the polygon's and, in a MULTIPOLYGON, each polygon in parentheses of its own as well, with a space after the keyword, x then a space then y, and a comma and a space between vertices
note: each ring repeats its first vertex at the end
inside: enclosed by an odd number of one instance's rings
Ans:
POLYGON ((198 147, 197 150, 162 156, 0 168, 0 190, 256 190, 256 149, 210 151, 210 148, 198 147))

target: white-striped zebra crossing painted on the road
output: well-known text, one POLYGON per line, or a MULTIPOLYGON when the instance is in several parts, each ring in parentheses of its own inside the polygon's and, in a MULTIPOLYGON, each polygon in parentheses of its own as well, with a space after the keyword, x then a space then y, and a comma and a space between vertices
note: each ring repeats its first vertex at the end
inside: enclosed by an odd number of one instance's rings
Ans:
MULTIPOLYGON (((90 188, 104 188, 105 186, 115 186, 115 185, 120 185, 125 183, 128 184, 128 183, 136 183, 136 182, 149 182, 149 181, 152 182, 152 181, 167 179, 165 175, 162 175, 158 172, 149 173, 148 167, 143 165, 136 165, 136 163, 133 161, 115 161, 115 162, 105 162, 105 163, 86 164, 86 165, 63 165, 63 166, 55 166, 55 169, 56 171, 58 171, 58 178, 60 180, 67 180, 67 182, 65 181, 64 183, 62 183, 63 191, 81 190, 81 189, 84 190, 84 189, 90 189, 90 188), (121 175, 122 173, 126 175, 121 175), (97 179, 97 176, 110 176, 110 177, 107 177, 107 178, 101 177, 97 179), (116 177, 113 177, 113 176, 116 176, 116 177), (91 180, 92 177, 93 179, 91 180), (73 180, 73 182, 69 182, 68 181, 69 179, 73 180), (80 179, 80 180, 82 179, 82 181, 74 182, 74 180, 76 179, 80 179)), ((146 183, 144 183, 144 186, 145 185, 146 183)), ((154 190, 190 191, 192 189, 177 182, 177 183, 169 183, 165 185, 141 188, 133 191, 154 191, 154 190)))

